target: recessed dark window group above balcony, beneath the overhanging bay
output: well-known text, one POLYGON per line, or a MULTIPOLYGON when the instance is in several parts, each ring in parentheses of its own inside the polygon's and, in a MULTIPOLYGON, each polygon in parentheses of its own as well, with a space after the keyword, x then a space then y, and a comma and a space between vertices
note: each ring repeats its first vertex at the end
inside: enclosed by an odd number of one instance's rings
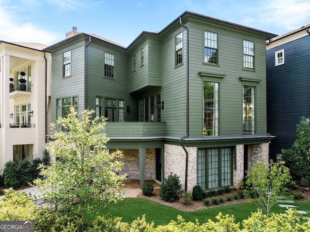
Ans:
POLYGON ((160 122, 160 94, 139 100, 140 122, 160 122))

